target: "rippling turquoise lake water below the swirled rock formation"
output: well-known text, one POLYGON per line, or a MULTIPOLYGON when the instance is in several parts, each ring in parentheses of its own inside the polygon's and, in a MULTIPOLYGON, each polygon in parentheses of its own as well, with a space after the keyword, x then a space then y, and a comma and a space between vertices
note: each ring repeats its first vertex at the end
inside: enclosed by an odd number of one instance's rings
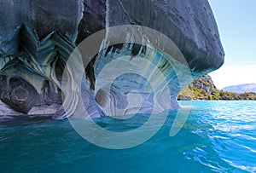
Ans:
MULTIPOLYGON (((170 112, 153 138, 123 150, 84 141, 68 120, 2 120, 0 172, 256 172, 255 108, 256 101, 193 101, 176 136, 169 136, 170 112)), ((113 121, 98 122, 108 128, 113 121)))

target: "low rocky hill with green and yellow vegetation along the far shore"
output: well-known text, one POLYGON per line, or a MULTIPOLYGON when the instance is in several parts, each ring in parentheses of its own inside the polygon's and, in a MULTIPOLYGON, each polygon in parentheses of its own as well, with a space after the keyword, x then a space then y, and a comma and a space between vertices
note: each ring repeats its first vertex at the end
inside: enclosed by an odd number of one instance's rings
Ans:
POLYGON ((201 76, 195 79, 191 84, 185 87, 179 95, 177 100, 253 100, 256 101, 256 94, 247 92, 243 94, 236 94, 219 90, 212 82, 209 75, 201 76))

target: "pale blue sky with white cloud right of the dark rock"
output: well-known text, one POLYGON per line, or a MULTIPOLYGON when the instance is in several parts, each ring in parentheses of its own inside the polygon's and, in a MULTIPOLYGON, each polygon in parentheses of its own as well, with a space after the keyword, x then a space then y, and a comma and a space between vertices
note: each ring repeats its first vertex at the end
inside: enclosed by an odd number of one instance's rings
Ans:
POLYGON ((208 0, 224 47, 224 66, 211 72, 218 89, 256 84, 256 0, 208 0))

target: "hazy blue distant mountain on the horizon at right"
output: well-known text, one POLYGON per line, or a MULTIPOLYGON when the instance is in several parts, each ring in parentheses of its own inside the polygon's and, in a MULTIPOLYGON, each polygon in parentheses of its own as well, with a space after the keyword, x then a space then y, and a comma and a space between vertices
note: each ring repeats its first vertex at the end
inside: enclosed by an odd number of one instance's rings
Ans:
POLYGON ((256 84, 239 84, 234 86, 225 87, 224 91, 234 92, 237 94, 254 92, 256 93, 256 84))

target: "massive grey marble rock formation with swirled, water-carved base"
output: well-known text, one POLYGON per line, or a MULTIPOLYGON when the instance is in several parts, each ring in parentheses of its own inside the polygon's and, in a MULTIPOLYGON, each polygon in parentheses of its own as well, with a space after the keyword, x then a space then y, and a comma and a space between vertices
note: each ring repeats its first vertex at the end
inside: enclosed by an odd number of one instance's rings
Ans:
MULTIPOLYGON (((150 40, 149 47, 132 43, 132 34, 128 31, 125 38, 129 43, 109 45, 103 53, 90 57, 85 69, 83 66, 71 69, 69 76, 75 76, 76 70, 84 70, 79 91, 73 89, 74 85, 79 86, 73 77, 67 78, 66 88, 62 87, 63 72, 73 49, 85 38, 112 26, 147 26, 164 34, 181 51, 192 78, 212 72, 224 63, 218 27, 207 0, 7 0, 0 2, 0 23, 1 116, 115 116, 134 110, 150 112, 154 103, 159 111, 177 108, 177 94, 184 86, 173 69, 177 68, 182 74, 179 66, 183 62, 178 61, 175 52, 165 52, 150 40), (148 78, 122 73, 114 79, 108 92, 104 81, 111 78, 111 69, 123 72, 124 66, 108 66, 110 71, 103 76, 101 71, 119 57, 127 57, 124 63, 131 63, 131 68, 154 73, 150 66, 137 63, 129 56, 151 61, 164 75, 151 78, 155 84, 152 86, 148 78), (103 80, 97 83, 100 77, 103 80), (160 78, 166 78, 169 100, 163 100, 166 95, 161 91, 160 78), (132 93, 134 90, 137 92, 132 93), (80 91, 82 94, 77 95, 80 91), (158 91, 160 94, 154 93, 158 91), (140 101, 136 93, 140 94, 140 101), (81 104, 88 114, 79 114, 81 104), (119 111, 112 109, 111 104, 119 107, 119 111)), ((103 33, 110 42, 118 37, 118 33, 103 33)))

